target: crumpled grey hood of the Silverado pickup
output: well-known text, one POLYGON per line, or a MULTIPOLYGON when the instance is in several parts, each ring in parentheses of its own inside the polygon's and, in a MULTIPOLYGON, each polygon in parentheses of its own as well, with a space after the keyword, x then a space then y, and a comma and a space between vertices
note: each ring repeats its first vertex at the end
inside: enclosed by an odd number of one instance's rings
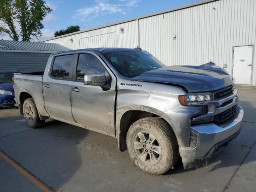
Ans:
POLYGON ((144 72, 131 80, 184 86, 188 92, 214 91, 232 84, 231 76, 217 66, 167 66, 144 72))

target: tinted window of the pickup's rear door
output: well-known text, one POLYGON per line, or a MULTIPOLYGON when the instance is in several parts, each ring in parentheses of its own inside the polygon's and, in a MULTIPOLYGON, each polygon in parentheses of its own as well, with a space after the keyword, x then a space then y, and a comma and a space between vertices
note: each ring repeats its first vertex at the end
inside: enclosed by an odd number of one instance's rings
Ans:
POLYGON ((56 56, 52 66, 51 76, 68 79, 73 55, 56 56))

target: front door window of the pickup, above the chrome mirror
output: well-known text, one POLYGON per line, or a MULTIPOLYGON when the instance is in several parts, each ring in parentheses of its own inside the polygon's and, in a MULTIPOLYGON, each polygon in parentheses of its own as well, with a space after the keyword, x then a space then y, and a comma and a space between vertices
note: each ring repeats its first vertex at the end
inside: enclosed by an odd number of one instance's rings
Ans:
POLYGON ((79 54, 76 79, 84 80, 85 74, 105 73, 102 63, 91 54, 79 54))

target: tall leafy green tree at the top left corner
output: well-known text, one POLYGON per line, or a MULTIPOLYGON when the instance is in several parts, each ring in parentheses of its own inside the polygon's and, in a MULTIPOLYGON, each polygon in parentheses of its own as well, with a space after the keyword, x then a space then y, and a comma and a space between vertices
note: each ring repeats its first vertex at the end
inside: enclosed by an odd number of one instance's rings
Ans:
POLYGON ((42 20, 52 9, 44 0, 0 0, 0 33, 9 34, 10 38, 18 41, 30 41, 32 37, 42 36, 42 20), (19 25, 20 30, 16 30, 19 25))

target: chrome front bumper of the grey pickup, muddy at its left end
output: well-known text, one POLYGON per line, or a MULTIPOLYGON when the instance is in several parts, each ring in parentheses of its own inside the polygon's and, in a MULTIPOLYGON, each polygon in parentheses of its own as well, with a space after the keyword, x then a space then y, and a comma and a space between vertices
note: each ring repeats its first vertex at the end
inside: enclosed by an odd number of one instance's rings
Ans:
POLYGON ((196 146, 180 147, 180 156, 184 168, 191 168, 198 161, 206 160, 220 152, 232 139, 236 138, 242 129, 243 109, 238 106, 236 115, 224 125, 214 123, 191 126, 197 140, 196 146))

